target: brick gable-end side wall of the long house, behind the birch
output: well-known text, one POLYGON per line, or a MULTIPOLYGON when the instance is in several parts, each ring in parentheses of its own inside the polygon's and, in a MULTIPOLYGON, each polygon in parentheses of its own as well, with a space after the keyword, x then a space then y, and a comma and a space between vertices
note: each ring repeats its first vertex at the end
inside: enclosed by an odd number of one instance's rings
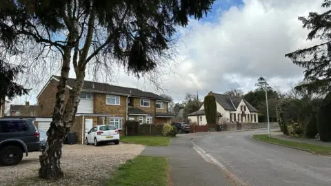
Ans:
MULTIPOLYGON (((50 83, 45 87, 43 92, 38 97, 37 116, 52 116, 55 106, 55 96, 57 94, 57 85, 59 82, 51 79, 50 83)), ((66 87, 66 101, 69 97, 69 89, 66 87)))

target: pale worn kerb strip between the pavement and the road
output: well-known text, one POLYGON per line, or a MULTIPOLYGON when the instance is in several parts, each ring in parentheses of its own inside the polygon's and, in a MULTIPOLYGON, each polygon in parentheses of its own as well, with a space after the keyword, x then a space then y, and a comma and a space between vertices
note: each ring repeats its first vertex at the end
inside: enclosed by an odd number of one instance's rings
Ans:
MULTIPOLYGON (((199 136, 202 137, 202 136, 199 136)), ((222 163, 217 161, 216 158, 214 158, 212 155, 205 152, 201 147, 199 147, 196 143, 194 143, 193 138, 191 140, 191 143, 193 145, 193 149, 208 163, 213 163, 214 165, 217 165, 223 172, 223 174, 232 182, 234 185, 238 186, 248 186, 248 184, 244 183, 240 178, 238 178, 236 175, 234 175, 230 170, 228 170, 222 163)))

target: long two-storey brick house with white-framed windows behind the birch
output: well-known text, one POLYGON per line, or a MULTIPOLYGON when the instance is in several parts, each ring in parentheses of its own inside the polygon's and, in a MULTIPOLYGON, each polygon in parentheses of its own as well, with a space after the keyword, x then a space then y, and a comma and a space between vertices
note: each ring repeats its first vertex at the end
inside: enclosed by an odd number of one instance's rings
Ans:
MULTIPOLYGON (((38 116, 52 116, 59 79, 59 76, 52 76, 38 94, 38 116)), ((73 85, 74 79, 68 79, 67 98, 73 85)), ((137 88, 84 81, 80 98, 72 132, 77 133, 81 143, 86 132, 94 125, 111 124, 124 135, 124 123, 127 119, 139 121, 141 124, 163 124, 174 117, 174 114, 168 112, 168 100, 137 88)))

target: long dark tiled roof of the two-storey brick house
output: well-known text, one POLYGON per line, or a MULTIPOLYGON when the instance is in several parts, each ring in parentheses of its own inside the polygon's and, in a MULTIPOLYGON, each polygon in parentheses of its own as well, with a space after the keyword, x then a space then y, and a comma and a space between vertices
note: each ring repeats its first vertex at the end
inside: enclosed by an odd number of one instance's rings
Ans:
MULTIPOLYGON (((51 79, 55 79, 56 81, 59 81, 60 76, 52 76, 51 79)), ((68 88, 71 89, 73 87, 74 80, 75 79, 72 79, 72 78, 68 79, 68 81, 67 81, 68 88)), ((143 97, 143 98, 149 98, 149 99, 157 99, 157 100, 161 100, 161 101, 168 101, 167 99, 163 98, 162 96, 159 96, 152 92, 146 92, 146 91, 142 91, 142 90, 139 90, 137 88, 132 88, 132 87, 121 87, 121 86, 117 86, 117 85, 110 85, 108 83, 98 83, 98 82, 94 82, 94 81, 84 81, 82 90, 84 92, 96 92, 96 93, 103 93, 103 94, 125 94, 125 95, 131 95, 131 96, 137 96, 137 97, 143 97)), ((41 90, 41 92, 43 92, 43 90, 41 90)), ((41 94, 41 92, 39 94, 41 94)))

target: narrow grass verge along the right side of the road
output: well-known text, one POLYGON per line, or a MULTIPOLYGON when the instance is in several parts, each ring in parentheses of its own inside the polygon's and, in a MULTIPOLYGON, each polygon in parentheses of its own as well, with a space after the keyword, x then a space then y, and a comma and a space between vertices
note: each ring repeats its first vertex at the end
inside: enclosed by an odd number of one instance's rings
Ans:
POLYGON ((307 143, 297 143, 293 141, 285 141, 277 138, 269 138, 268 134, 257 134, 254 135, 253 138, 259 140, 259 141, 265 141, 268 143, 274 143, 279 145, 284 145, 288 147, 295 147, 299 149, 307 149, 310 152, 313 152, 315 154, 321 154, 321 155, 331 155, 331 147, 324 147, 320 145, 311 145, 307 143))

